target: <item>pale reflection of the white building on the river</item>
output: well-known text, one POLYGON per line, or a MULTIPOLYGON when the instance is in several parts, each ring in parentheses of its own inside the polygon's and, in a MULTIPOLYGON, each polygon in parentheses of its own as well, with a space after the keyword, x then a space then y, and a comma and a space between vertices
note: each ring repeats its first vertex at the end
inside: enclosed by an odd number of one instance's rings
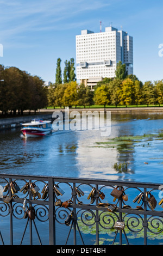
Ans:
MULTIPOLYGON (((133 126, 133 124, 131 125, 133 126)), ((103 144, 108 142, 109 138, 120 137, 128 135, 129 127, 119 125, 118 121, 111 121, 111 135, 109 137, 101 137, 101 131, 79 131, 78 134, 78 148, 77 148, 77 162, 79 176, 81 178, 99 178, 117 180, 122 178, 123 173, 119 173, 114 168, 116 162, 133 162, 134 147, 132 144, 117 145, 103 144), (98 142, 98 144, 97 144, 98 142)), ((128 165, 128 167, 130 164, 128 165)), ((132 171, 132 170, 131 170, 132 171)))

